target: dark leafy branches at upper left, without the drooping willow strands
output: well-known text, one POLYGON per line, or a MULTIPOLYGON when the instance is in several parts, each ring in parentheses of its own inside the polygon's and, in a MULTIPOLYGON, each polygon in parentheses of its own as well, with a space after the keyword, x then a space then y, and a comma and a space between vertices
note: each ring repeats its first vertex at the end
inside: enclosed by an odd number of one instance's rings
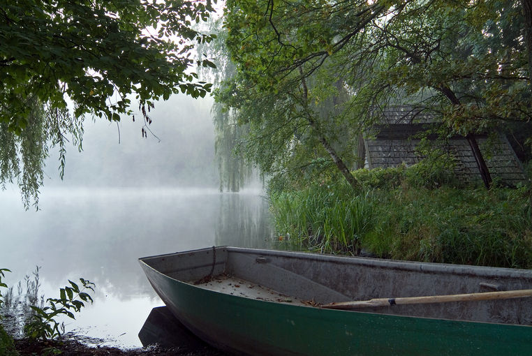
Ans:
POLYGON ((68 96, 75 117, 119 120, 131 93, 141 103, 205 96, 208 84, 186 70, 193 43, 212 39, 192 23, 212 10, 210 0, 0 1, 0 121, 20 133, 32 98, 64 108, 68 96))

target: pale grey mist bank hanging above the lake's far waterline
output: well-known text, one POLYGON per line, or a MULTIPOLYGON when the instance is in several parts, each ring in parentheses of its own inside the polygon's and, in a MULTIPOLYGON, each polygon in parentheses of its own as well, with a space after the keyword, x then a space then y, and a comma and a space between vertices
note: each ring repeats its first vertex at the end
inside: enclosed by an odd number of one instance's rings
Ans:
POLYGON ((212 98, 173 96, 149 112, 121 121, 84 121, 83 151, 70 147, 64 180, 58 175, 59 156, 51 150, 45 186, 216 187, 212 98), (149 129, 142 138, 142 128, 149 129))

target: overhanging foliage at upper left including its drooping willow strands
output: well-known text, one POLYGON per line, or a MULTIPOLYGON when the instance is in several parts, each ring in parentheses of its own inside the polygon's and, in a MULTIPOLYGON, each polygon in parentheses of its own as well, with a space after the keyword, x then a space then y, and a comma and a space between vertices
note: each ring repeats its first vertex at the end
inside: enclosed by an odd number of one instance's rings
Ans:
POLYGON ((118 121, 135 101, 149 121, 158 98, 205 96, 211 84, 191 67, 214 64, 190 50, 212 36, 192 24, 212 10, 211 0, 0 0, 0 183, 17 181, 36 203, 49 145, 64 165, 85 115, 118 121))

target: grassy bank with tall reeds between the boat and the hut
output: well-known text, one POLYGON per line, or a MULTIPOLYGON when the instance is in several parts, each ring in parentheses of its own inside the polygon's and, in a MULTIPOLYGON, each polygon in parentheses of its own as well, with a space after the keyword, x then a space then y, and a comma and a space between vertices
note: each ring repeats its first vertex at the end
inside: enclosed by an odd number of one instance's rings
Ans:
POLYGON ((457 186, 419 168, 356 172, 354 192, 323 182, 271 193, 279 239, 326 253, 532 267, 531 192, 457 186))

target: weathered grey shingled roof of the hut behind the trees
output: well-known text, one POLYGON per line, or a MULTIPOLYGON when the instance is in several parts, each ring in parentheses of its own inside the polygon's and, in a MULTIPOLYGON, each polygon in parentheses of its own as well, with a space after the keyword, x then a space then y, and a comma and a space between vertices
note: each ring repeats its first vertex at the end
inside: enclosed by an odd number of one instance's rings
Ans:
MULTIPOLYGON (((383 110, 383 124, 374 126, 371 138, 364 140, 367 168, 390 168, 401 164, 413 165, 421 161, 416 152, 420 143, 413 138, 438 122, 431 114, 408 106, 387 107, 383 110)), ((480 150, 492 178, 505 184, 517 185, 525 180, 523 166, 513 151, 508 139, 499 133, 495 140, 488 141, 487 135, 476 135, 480 150)), ((456 136, 445 142, 433 141, 435 146, 455 157, 455 174, 460 181, 480 179, 480 172, 473 152, 465 138, 456 136)))

